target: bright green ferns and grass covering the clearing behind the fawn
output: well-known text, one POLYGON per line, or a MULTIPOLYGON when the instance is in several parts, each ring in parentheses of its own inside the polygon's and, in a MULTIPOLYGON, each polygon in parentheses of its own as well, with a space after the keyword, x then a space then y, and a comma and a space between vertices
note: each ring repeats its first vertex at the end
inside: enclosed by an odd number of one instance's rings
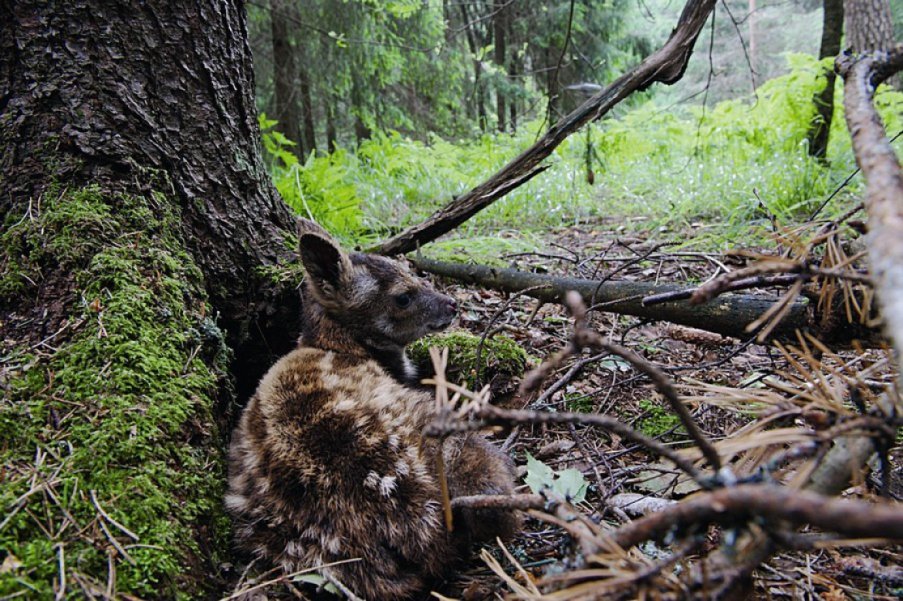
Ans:
MULTIPOLYGON (((654 93, 638 106, 616 107, 564 140, 547 159, 549 169, 460 226, 454 237, 601 222, 707 248, 736 246, 738 239, 766 242, 774 224, 805 221, 855 168, 841 84, 827 161, 821 162, 808 156, 806 134, 827 62, 802 54, 787 61, 790 71, 755 95, 705 110, 654 93), (587 181, 587 166, 595 185, 587 181)), ((877 105, 891 136, 903 129, 903 94, 885 87, 877 105)), ((265 134, 264 142, 277 187, 297 212, 346 242, 368 245, 484 181, 528 148, 542 127, 536 121, 514 135, 460 142, 376 133, 356 152, 338 149, 300 162, 277 134, 265 134)), ((903 149, 903 139, 896 144, 903 149)), ((861 181, 854 179, 822 216, 842 213, 860 192, 861 181)), ((496 254, 494 247, 487 250, 487 256, 496 254)))

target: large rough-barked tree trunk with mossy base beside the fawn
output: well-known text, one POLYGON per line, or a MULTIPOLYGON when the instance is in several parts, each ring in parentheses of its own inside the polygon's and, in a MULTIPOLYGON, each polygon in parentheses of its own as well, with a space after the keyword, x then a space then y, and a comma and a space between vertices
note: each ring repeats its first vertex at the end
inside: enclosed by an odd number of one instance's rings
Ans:
POLYGON ((252 73, 240 2, 0 3, 0 596, 217 586, 230 356, 298 330, 252 73))

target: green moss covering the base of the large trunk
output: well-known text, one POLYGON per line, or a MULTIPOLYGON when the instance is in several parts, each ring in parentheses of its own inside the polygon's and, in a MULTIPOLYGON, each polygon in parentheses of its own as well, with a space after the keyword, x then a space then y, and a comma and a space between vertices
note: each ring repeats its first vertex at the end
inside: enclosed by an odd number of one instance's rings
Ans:
POLYGON ((69 595, 192 597, 228 548, 212 409, 229 353, 169 207, 55 189, 4 225, 0 306, 45 272, 74 294, 45 343, 3 342, 0 597, 52 598, 61 570, 69 595))

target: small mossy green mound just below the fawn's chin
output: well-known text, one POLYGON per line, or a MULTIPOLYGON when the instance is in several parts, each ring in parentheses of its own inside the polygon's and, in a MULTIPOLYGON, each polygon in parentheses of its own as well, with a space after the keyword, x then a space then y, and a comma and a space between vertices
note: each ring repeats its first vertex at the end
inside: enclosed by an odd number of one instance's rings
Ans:
POLYGON ((479 384, 499 383, 493 392, 506 392, 514 380, 524 374, 527 352, 507 336, 494 336, 483 341, 479 365, 477 349, 480 337, 464 331, 435 334, 421 338, 408 348, 408 355, 415 365, 431 370, 430 347, 449 349, 446 377, 452 382, 463 381, 469 388, 475 388, 477 374, 479 384))

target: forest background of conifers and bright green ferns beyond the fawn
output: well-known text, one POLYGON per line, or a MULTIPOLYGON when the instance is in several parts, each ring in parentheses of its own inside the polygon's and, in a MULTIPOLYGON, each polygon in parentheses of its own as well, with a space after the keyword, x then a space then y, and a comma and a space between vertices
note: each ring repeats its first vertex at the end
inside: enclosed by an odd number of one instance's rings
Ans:
MULTIPOLYGON (((899 39, 903 2, 890 4, 899 39)), ((681 8, 669 0, 251 4, 275 183, 295 211, 348 241, 417 223, 657 48, 681 8)), ((602 216, 663 232, 703 219, 704 235, 691 243, 724 247, 757 221, 809 215, 855 168, 842 118, 832 120, 827 160, 807 152, 813 95, 824 86, 822 21, 816 0, 719 3, 680 82, 631 96, 566 140, 550 169, 459 234, 493 255, 532 248, 529 231, 602 216), (481 236, 512 224, 520 235, 481 236)), ((837 95, 840 117, 840 86, 837 95)), ((893 136, 899 97, 879 104, 893 136)), ((849 196, 835 199, 829 211, 849 196)))

